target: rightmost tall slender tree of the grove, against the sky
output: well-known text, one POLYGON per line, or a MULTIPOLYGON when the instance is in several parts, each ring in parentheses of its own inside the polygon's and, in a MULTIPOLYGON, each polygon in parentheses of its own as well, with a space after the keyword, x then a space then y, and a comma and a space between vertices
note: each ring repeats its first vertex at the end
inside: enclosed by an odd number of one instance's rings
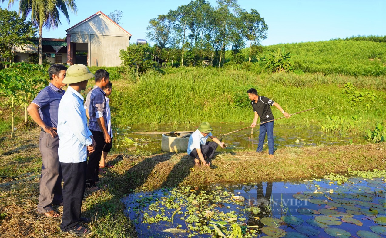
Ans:
POLYGON ((259 12, 254 9, 248 13, 243 10, 240 13, 242 20, 242 34, 249 41, 249 62, 252 60, 252 55, 255 55, 259 49, 261 40, 267 39, 268 26, 264 22, 264 18, 260 17, 259 12))

